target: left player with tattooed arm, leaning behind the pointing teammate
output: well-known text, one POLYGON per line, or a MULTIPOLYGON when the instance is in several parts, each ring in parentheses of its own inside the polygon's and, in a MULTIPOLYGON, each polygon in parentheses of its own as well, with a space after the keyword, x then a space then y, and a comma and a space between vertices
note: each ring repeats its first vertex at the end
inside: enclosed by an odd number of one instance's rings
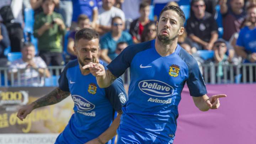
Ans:
POLYGON ((100 88, 89 69, 82 66, 100 63, 97 59, 99 35, 94 30, 84 28, 75 34, 74 52, 78 59, 69 62, 59 79, 59 87, 30 105, 22 107, 17 114, 21 120, 32 110, 53 105, 71 94, 75 103, 74 114, 56 144, 105 144, 116 135, 121 107, 126 102, 126 94, 121 79, 107 88, 100 88), (113 119, 113 109, 119 114, 113 119), (111 126, 110 126, 111 124, 111 126))

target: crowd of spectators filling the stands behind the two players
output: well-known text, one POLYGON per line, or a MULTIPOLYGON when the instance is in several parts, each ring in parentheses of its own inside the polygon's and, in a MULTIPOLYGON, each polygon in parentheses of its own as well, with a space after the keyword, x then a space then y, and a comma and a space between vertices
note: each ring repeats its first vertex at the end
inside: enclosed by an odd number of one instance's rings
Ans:
MULTIPOLYGON (((185 5, 185 1, 190 6, 190 14, 178 43, 199 64, 216 63, 216 76, 222 77, 223 64, 256 62, 256 0, 1 0, 0 59, 6 57, 6 48, 22 52, 23 43, 30 41, 29 35, 23 34, 26 8, 34 11, 31 34, 37 38, 34 43, 37 55, 47 66, 59 66, 76 58, 74 36, 79 29, 93 28, 100 33, 99 57, 110 63, 130 44, 156 37, 156 21, 162 7, 185 5), (222 17, 221 23, 217 15, 222 17), (64 50, 68 57, 63 57, 64 50), (201 59, 197 53, 200 50, 211 51, 214 56, 201 59)), ((17 62, 22 60, 30 65, 24 59, 17 62)), ((11 64, 12 69, 17 62, 11 64)), ((255 81, 256 68, 253 69, 255 81)), ((248 76, 249 69, 246 68, 246 72, 248 76)))

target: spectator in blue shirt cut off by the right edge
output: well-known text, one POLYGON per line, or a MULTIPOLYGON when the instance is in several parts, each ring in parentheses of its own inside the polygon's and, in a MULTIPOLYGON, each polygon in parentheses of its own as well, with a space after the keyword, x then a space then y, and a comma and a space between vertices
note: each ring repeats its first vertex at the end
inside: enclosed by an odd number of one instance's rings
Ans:
MULTIPOLYGON (((250 26, 241 29, 236 42, 235 51, 238 55, 245 59, 245 63, 256 63, 256 5, 247 8, 247 18, 251 22, 250 26)), ((255 78, 255 66, 253 66, 253 81, 255 78)), ((249 69, 246 69, 246 80, 249 80, 249 69)))

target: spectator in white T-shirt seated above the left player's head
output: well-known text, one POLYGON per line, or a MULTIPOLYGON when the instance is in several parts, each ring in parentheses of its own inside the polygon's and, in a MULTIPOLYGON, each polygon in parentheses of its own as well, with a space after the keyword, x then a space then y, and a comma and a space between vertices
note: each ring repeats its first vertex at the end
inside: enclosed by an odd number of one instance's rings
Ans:
POLYGON ((97 27, 96 30, 98 33, 105 34, 111 31, 111 21, 113 17, 121 17, 123 21, 123 28, 124 28, 124 21, 125 16, 122 10, 114 7, 114 0, 102 0, 102 7, 99 9, 99 15, 97 20, 97 27))

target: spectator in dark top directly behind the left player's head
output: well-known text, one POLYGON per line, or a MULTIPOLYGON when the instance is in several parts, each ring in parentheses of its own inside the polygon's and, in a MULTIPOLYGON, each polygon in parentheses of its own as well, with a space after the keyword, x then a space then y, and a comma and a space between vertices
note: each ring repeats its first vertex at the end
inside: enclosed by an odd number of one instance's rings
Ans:
POLYGON ((75 46, 75 33, 82 28, 91 28, 90 19, 88 16, 81 14, 78 17, 78 28, 75 31, 70 32, 68 36, 68 53, 70 54, 70 60, 76 59, 76 55, 74 53, 75 46))

